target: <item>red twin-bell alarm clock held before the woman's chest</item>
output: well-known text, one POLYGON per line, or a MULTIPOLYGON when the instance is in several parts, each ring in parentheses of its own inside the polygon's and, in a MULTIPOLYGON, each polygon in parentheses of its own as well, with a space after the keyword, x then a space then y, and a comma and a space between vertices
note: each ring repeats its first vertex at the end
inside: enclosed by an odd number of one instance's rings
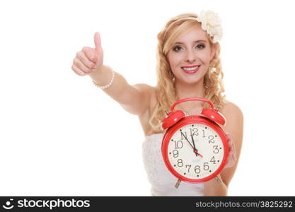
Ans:
POLYGON ((166 132, 162 140, 162 155, 168 170, 181 181, 207 182, 223 170, 229 155, 229 144, 220 125, 226 124, 223 114, 205 98, 185 98, 175 102, 161 123, 166 132), (207 102, 211 108, 201 115, 185 115, 174 111, 176 105, 187 101, 207 102))

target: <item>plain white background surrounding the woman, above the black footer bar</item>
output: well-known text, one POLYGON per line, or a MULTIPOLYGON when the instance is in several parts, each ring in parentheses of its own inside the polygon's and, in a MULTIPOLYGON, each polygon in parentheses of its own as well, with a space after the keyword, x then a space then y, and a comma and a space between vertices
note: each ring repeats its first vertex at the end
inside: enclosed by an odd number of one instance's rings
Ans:
POLYGON ((224 27, 227 98, 244 114, 231 196, 294 195, 292 1, 1 1, 0 194, 149 196, 144 133, 88 76, 71 70, 100 32, 105 64, 156 85, 156 35, 180 13, 224 27))

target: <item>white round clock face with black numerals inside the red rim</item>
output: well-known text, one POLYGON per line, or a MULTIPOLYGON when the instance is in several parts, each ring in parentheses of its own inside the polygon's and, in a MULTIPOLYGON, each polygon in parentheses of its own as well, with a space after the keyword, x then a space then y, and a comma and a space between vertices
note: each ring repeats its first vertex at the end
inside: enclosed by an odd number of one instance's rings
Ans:
POLYGON ((214 129, 205 124, 180 127, 168 142, 168 161, 173 170, 195 182, 208 178, 224 163, 224 144, 214 129))

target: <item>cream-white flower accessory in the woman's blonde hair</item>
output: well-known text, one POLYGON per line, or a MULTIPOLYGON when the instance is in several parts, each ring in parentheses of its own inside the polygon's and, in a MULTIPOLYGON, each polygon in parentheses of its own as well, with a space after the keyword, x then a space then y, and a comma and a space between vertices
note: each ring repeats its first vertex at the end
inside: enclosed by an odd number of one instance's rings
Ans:
POLYGON ((197 21, 202 23, 202 29, 205 30, 211 37, 213 37, 214 43, 221 40, 223 35, 221 19, 216 13, 213 11, 202 11, 197 17, 197 21))

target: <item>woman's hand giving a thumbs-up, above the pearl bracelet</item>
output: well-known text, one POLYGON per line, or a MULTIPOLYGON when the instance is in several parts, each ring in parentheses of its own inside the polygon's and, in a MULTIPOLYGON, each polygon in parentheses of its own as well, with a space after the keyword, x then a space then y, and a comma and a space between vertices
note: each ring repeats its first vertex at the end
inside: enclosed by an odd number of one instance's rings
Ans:
POLYGON ((94 43, 96 48, 83 47, 73 60, 71 69, 79 76, 93 73, 103 65, 103 48, 99 33, 94 34, 94 43))

